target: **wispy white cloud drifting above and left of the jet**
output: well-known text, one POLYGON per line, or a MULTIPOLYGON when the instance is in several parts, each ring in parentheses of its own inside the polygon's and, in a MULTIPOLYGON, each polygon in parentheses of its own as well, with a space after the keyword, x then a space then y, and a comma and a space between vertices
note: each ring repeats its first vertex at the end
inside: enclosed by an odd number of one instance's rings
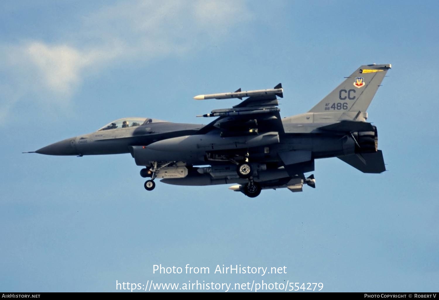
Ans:
POLYGON ((249 16, 246 3, 238 1, 123 1, 78 19, 76 32, 58 33, 64 33, 56 37, 61 42, 24 36, 19 44, 0 44, 0 73, 7 75, 3 84, 16 91, 0 91, 7 97, 0 113, 29 94, 44 95, 39 97, 44 104, 66 104, 88 71, 99 72, 116 61, 196 55, 249 16))

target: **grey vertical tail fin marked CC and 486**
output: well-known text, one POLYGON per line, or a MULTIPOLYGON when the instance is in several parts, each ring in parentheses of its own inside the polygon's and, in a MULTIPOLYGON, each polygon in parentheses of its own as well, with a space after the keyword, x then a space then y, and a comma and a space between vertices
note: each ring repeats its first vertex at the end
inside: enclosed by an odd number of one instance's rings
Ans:
POLYGON ((309 112, 366 112, 384 76, 391 67, 391 64, 361 66, 309 112))

